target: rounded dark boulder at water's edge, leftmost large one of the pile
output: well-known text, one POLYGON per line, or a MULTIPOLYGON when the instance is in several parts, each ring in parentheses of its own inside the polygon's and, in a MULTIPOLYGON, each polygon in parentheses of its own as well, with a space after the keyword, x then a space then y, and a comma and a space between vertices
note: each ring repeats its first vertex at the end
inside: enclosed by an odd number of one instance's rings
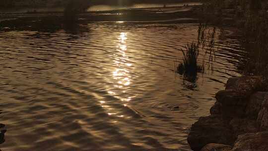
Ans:
POLYGON ((233 145, 235 136, 228 122, 220 116, 207 116, 201 117, 192 126, 187 141, 192 150, 200 151, 211 143, 233 145))

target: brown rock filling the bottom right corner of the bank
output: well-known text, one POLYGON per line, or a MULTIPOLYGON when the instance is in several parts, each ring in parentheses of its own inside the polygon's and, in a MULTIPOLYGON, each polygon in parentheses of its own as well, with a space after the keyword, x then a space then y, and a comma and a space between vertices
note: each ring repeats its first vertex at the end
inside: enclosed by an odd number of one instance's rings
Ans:
POLYGON ((240 135, 231 151, 268 151, 268 132, 240 135))

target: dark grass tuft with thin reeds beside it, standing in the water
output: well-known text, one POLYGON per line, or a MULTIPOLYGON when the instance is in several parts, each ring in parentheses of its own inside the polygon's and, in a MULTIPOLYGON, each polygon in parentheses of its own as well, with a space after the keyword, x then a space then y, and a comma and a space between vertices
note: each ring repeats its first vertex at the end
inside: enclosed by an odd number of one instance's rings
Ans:
POLYGON ((200 23, 198 29, 197 42, 192 42, 185 47, 183 52, 183 61, 175 64, 175 72, 184 75, 190 82, 195 82, 197 73, 204 73, 204 65, 207 64, 207 69, 213 72, 213 59, 215 59, 215 33, 216 29, 207 26, 205 23, 200 23), (198 64, 198 57, 200 49, 205 50, 202 64, 198 64), (208 55, 208 56, 207 56, 208 55), (208 59, 206 59, 209 57, 208 59), (205 63, 204 60, 208 60, 205 63))

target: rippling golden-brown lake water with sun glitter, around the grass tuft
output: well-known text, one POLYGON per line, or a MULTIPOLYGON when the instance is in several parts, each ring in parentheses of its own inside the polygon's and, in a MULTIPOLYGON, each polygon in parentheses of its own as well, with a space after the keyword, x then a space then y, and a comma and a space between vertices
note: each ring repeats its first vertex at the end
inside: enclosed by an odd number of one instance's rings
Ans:
POLYGON ((190 151, 191 125, 209 114, 228 77, 239 75, 243 55, 239 40, 217 34, 213 73, 198 74, 196 84, 184 80, 174 64, 197 30, 96 22, 75 31, 1 31, 0 123, 7 132, 0 148, 190 151))

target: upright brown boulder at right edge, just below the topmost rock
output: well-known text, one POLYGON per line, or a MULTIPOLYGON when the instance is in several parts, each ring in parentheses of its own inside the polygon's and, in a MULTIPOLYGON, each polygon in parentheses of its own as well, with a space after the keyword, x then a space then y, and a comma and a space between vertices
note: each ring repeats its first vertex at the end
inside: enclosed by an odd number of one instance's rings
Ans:
POLYGON ((268 95, 268 92, 256 92, 253 95, 251 95, 246 108, 247 118, 254 120, 258 118, 259 112, 262 109, 262 104, 266 95, 268 95))

